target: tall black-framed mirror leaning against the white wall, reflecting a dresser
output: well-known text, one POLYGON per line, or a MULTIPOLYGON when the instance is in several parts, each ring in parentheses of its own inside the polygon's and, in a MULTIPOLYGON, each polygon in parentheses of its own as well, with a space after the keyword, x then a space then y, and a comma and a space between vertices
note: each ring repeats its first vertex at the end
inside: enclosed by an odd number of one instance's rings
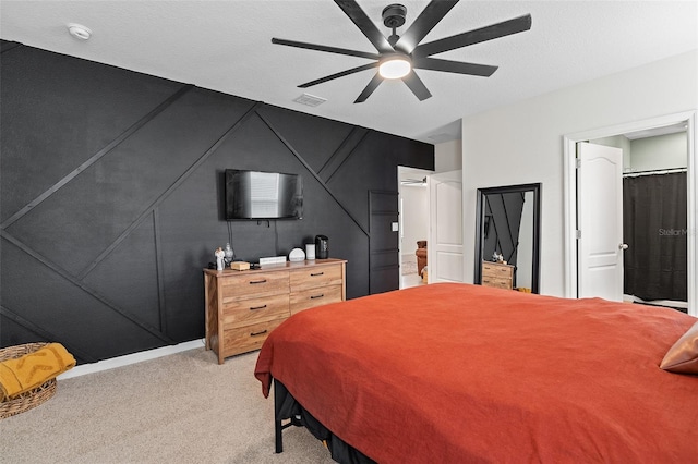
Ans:
POLYGON ((539 293, 541 184, 478 188, 474 283, 539 293))

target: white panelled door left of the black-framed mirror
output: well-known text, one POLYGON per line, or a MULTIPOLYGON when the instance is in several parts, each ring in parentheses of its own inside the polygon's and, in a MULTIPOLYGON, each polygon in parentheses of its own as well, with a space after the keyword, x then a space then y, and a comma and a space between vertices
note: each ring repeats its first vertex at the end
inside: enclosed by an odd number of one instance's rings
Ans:
POLYGON ((462 282, 462 173, 429 176, 428 281, 462 282))

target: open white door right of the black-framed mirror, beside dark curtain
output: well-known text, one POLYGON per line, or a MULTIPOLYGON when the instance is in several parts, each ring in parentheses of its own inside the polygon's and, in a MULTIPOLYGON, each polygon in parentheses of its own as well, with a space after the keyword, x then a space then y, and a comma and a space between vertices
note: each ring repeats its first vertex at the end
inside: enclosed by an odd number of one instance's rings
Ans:
POLYGON ((623 150, 577 144, 578 296, 623 300, 623 150))

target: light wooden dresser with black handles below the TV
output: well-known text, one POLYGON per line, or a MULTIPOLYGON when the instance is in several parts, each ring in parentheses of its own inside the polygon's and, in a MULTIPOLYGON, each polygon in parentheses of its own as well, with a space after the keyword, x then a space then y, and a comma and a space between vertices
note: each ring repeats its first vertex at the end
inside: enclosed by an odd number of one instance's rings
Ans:
POLYGON ((204 269, 206 350, 218 364, 258 350, 289 316, 314 306, 345 301, 344 259, 317 259, 262 269, 204 269))

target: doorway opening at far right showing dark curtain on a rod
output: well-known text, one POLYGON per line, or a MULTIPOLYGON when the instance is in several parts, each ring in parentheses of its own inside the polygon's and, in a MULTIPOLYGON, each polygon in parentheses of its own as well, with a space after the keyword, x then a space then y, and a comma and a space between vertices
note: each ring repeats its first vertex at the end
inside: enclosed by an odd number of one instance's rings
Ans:
POLYGON ((623 150, 623 300, 686 313, 687 123, 589 142, 623 150))

